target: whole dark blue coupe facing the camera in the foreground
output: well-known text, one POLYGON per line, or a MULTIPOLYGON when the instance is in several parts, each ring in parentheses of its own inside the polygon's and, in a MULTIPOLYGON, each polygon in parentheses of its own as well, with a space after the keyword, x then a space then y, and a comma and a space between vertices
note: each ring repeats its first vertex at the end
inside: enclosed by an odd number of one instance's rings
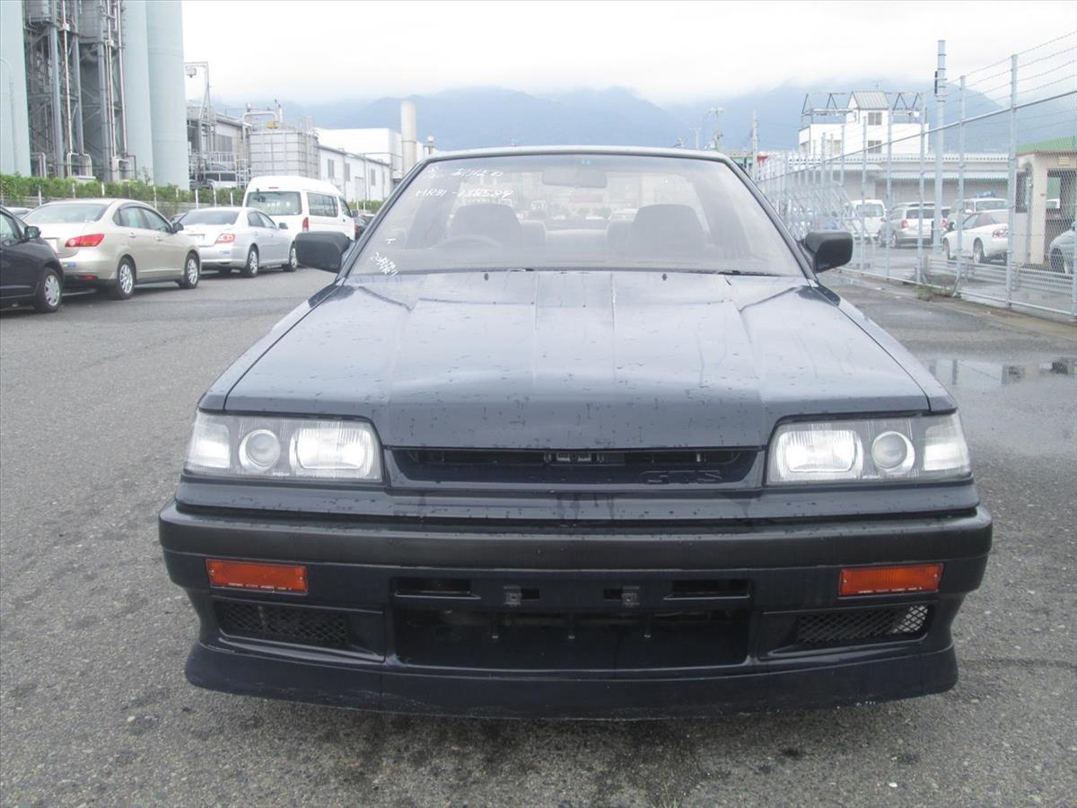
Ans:
POLYGON ((199 402, 159 517, 191 682, 572 718, 954 684, 991 518, 953 399, 820 283, 850 234, 677 150, 434 155, 388 205, 297 236, 335 280, 199 402))

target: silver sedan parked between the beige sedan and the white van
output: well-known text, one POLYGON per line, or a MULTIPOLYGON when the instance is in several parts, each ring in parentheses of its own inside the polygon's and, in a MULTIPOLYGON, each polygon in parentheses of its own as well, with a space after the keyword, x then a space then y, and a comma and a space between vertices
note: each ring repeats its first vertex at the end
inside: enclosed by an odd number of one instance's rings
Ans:
POLYGON ((239 269, 253 278, 260 269, 279 266, 285 273, 298 266, 292 234, 253 208, 204 208, 185 213, 184 234, 198 246, 206 269, 227 275, 239 269))

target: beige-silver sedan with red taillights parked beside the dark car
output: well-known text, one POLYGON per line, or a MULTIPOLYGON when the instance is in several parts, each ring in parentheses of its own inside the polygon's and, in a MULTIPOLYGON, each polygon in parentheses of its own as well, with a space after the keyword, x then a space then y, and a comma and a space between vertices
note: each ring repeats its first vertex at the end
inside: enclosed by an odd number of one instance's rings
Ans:
POLYGON ((64 267, 64 287, 100 287, 127 299, 136 283, 198 285, 198 250, 160 213, 134 199, 69 199, 34 208, 32 224, 64 267))

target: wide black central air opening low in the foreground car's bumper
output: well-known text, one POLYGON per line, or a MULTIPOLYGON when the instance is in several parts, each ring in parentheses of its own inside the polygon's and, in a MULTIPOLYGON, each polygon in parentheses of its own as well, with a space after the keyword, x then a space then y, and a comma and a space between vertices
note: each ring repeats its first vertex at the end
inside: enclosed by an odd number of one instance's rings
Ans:
POLYGON ((486 670, 632 670, 736 665, 747 654, 747 612, 500 612, 397 609, 396 653, 407 665, 486 670))

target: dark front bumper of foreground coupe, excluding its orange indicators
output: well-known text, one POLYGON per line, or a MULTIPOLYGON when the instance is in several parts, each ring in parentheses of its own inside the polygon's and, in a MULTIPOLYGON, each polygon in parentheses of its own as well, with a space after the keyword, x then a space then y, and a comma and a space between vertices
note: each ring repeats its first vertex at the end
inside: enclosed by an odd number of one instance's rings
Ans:
POLYGON ((200 619, 188 680, 370 710, 654 718, 905 698, 956 681, 950 624, 991 519, 659 529, 160 514, 200 619), (660 532, 659 532, 660 531, 660 532), (305 596, 205 561, 305 563, 305 596), (939 591, 838 598, 843 566, 942 561, 939 591))

